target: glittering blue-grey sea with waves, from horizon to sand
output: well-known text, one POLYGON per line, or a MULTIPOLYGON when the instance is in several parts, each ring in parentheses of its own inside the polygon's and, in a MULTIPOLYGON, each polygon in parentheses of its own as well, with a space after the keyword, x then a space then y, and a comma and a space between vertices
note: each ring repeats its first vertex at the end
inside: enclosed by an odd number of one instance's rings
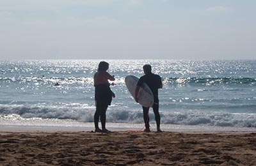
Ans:
MULTIPOLYGON (((143 65, 161 76, 159 112, 166 130, 242 128, 256 131, 256 61, 106 60, 116 94, 107 111, 114 128, 143 126, 141 106, 125 77, 143 65)), ((100 60, 0 61, 0 126, 93 127, 93 75, 100 60), (58 83, 58 84, 57 84, 58 83)), ((150 109, 150 124, 154 113, 150 109)))

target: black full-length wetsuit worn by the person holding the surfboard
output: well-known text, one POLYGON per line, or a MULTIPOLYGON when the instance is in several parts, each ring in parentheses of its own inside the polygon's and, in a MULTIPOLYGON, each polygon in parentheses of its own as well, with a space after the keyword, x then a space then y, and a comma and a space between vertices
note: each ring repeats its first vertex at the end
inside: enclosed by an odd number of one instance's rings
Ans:
MULTIPOLYGON (((160 127, 158 89, 159 89, 159 86, 162 84, 161 77, 154 73, 147 73, 146 75, 143 75, 142 77, 140 77, 137 86, 142 86, 143 83, 146 83, 148 87, 150 87, 152 93, 154 94, 153 110, 155 114, 157 127, 160 127)), ((145 127, 149 129, 149 116, 148 116, 149 107, 142 107, 142 108, 143 108, 143 117, 144 117, 145 127)))

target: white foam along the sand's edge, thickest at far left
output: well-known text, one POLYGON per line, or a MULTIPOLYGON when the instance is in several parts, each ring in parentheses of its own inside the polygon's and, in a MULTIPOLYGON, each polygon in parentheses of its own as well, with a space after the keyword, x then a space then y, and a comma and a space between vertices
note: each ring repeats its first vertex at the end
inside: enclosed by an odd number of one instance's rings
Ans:
MULTIPOLYGON (((17 114, 0 116, 0 126, 4 127, 29 127, 29 128, 69 128, 74 130, 88 130, 94 128, 94 123, 83 123, 71 119, 42 119, 39 117, 24 118, 17 114)), ((142 123, 107 123, 111 130, 139 130, 143 128, 142 123)), ((156 132, 156 124, 150 123, 151 130, 156 132)), ((161 124, 161 129, 170 132, 256 132, 256 128, 244 127, 221 127, 205 125, 181 125, 161 124)))

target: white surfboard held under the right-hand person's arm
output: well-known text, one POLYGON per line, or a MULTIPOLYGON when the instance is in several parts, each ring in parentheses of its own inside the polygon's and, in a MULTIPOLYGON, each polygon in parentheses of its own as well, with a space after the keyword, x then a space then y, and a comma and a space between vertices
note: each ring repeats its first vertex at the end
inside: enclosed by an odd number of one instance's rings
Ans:
MULTIPOLYGON (((133 98, 135 98, 135 90, 138 80, 139 78, 135 77, 134 75, 128 75, 125 77, 125 84, 133 98)), ((138 93, 138 102, 143 107, 152 107, 154 104, 154 95, 150 87, 148 87, 148 85, 145 83, 140 87, 140 91, 138 93)))

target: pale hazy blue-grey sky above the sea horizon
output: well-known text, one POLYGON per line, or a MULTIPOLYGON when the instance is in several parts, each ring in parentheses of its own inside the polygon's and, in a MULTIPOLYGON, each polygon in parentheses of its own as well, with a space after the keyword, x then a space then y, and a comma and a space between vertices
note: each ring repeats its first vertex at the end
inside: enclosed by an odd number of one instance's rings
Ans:
POLYGON ((256 59, 255 0, 0 0, 0 60, 256 59))

